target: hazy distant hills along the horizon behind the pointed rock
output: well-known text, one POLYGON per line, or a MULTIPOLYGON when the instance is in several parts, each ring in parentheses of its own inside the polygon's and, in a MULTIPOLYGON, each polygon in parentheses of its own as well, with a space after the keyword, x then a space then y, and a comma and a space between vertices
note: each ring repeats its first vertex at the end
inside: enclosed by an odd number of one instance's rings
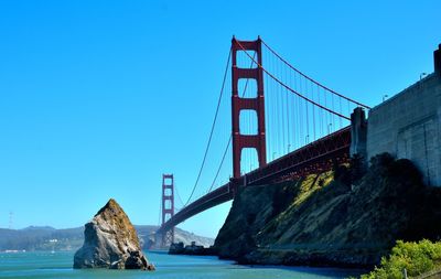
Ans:
MULTIPOLYGON (((142 247, 149 249, 154 244, 153 234, 158 226, 135 226, 142 247)), ((0 251, 4 250, 76 250, 84 242, 84 227, 56 229, 50 226, 30 226, 22 229, 0 228, 0 251)), ((175 242, 211 246, 214 239, 197 236, 175 228, 175 242)))

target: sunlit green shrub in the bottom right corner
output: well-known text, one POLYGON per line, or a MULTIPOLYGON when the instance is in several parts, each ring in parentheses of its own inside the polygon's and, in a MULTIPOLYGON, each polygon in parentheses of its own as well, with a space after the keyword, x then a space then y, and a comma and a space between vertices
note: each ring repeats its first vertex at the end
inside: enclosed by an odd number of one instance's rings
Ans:
POLYGON ((405 243, 398 240, 389 257, 381 258, 381 266, 376 267, 370 273, 362 276, 362 279, 404 278, 406 268, 409 277, 419 276, 441 266, 441 242, 431 243, 405 243))

